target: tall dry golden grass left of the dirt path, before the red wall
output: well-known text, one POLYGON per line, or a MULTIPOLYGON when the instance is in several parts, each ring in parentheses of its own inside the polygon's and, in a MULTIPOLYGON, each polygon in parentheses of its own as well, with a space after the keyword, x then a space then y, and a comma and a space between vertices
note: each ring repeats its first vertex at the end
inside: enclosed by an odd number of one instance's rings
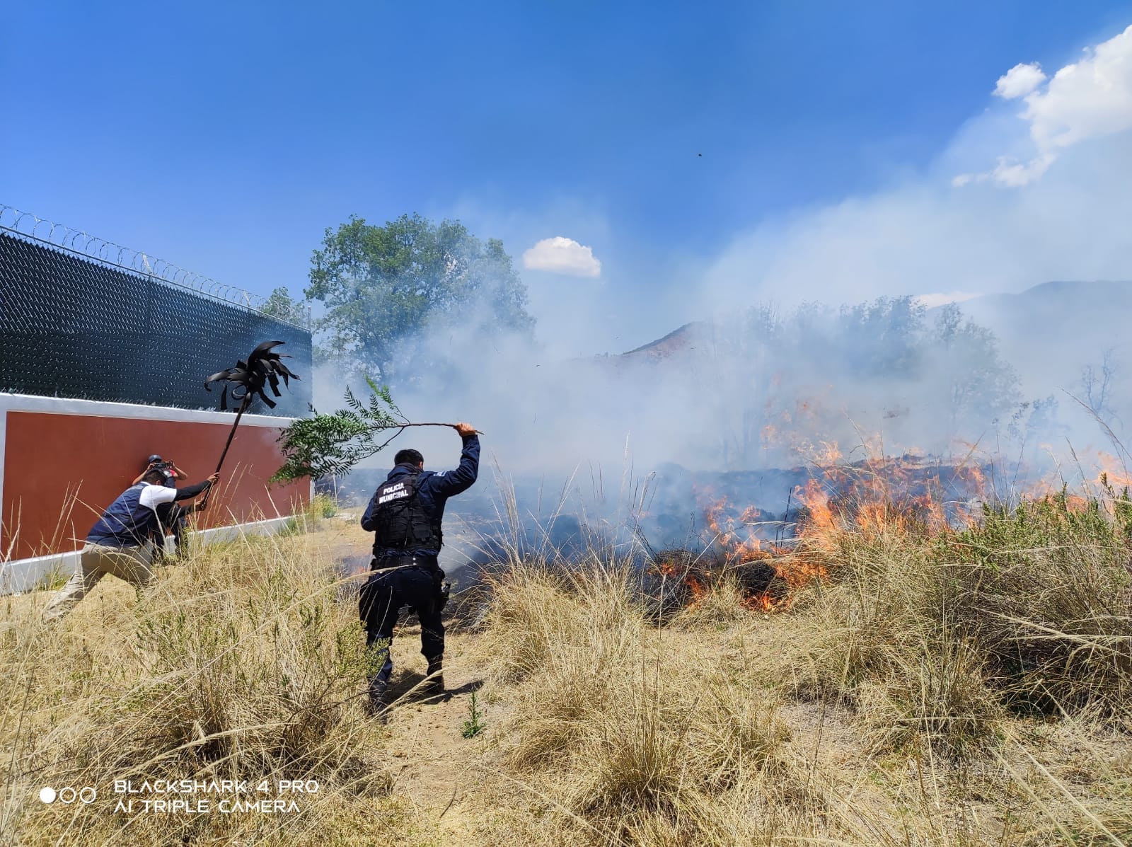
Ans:
MULTIPOLYGON (((308 539, 212 546, 164 568, 137 598, 114 583, 104 580, 54 627, 40 623, 40 598, 9 605, 0 652, 9 707, 0 743, 11 751, 6 838, 172 845, 271 841, 285 830, 285 842, 318 841, 385 792, 368 753, 380 732, 359 702, 370 656, 354 608, 335 602, 331 562, 308 539), (299 815, 114 811, 115 780, 157 779, 246 780, 245 799, 275 798, 274 788, 255 790, 265 779, 317 780, 319 794, 302 798, 299 815), (42 785, 96 786, 100 795, 49 806, 34 799, 42 785)), ((187 798, 196 796, 207 795, 187 798)))

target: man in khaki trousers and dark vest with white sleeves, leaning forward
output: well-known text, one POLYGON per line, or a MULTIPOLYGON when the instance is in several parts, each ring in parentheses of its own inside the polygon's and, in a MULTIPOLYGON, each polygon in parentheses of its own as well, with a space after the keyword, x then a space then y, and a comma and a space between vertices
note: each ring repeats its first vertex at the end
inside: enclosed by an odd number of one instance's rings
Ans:
POLYGON ((48 602, 43 619, 57 621, 66 615, 108 573, 139 588, 149 584, 154 579, 149 539, 158 528, 157 506, 196 497, 217 479, 220 474, 214 473, 195 486, 169 488, 164 470, 149 468, 142 481, 122 491, 91 528, 78 567, 48 602))

